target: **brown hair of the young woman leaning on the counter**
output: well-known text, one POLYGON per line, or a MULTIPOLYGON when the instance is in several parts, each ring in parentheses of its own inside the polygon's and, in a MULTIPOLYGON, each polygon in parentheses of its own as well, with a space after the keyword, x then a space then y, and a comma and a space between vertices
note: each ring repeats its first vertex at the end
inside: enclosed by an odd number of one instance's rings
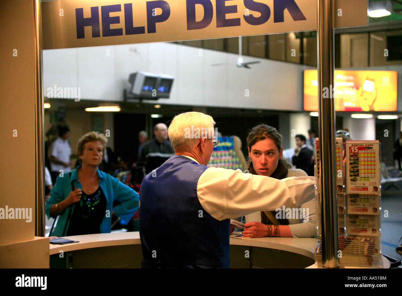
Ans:
MULTIPOLYGON (((272 139, 272 141, 274 141, 275 145, 278 147, 278 151, 281 151, 282 135, 278 132, 278 130, 276 128, 269 126, 267 124, 259 124, 257 126, 254 126, 252 129, 250 129, 250 131, 248 132, 247 139, 246 139, 248 150, 251 151, 251 147, 255 143, 257 143, 258 141, 264 140, 264 139, 272 139)), ((287 161, 285 159, 283 159, 283 157, 281 157, 279 159, 279 161, 286 168, 291 168, 291 165, 288 164, 287 161)), ((254 170, 254 167, 252 165, 252 160, 250 157, 248 157, 246 168, 248 169, 248 171, 251 174, 257 175, 257 173, 254 170)))

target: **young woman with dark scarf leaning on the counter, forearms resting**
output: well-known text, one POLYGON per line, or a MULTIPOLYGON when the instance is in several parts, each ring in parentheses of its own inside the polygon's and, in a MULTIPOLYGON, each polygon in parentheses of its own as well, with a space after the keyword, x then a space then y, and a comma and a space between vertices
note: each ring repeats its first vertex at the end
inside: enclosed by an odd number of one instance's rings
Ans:
MULTIPOLYGON (((277 179, 307 176, 306 172, 292 169, 282 159, 282 136, 271 126, 260 124, 252 128, 247 137, 247 147, 250 174, 277 179)), ((299 209, 290 210, 246 215, 243 236, 314 237, 317 231, 316 199, 300 205, 299 209)))

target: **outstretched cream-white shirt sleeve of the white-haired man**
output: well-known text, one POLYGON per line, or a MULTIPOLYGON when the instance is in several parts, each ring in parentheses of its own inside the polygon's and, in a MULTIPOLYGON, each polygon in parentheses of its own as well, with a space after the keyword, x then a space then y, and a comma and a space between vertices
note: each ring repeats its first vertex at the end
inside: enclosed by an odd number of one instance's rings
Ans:
POLYGON ((241 170, 208 168, 198 180, 197 195, 201 206, 215 219, 234 219, 310 201, 314 198, 314 177, 277 180, 241 170))

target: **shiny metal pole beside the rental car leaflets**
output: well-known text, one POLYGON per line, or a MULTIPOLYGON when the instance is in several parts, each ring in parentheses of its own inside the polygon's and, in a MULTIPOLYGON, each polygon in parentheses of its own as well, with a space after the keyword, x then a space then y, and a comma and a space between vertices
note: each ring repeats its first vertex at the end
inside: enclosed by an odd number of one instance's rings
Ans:
POLYGON ((320 199, 322 265, 339 267, 336 213, 334 24, 332 0, 317 0, 318 135, 320 145, 320 199), (324 89, 328 87, 328 89, 324 89), (324 91, 326 90, 326 93, 324 91), (328 94, 328 96, 324 95, 328 94))

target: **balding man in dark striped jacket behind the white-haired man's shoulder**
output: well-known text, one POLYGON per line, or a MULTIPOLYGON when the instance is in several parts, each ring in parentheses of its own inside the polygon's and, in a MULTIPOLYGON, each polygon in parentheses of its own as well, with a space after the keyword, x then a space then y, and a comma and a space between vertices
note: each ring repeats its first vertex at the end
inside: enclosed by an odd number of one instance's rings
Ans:
POLYGON ((137 160, 135 182, 141 184, 146 174, 159 168, 166 160, 174 155, 174 150, 168 140, 168 127, 164 123, 154 126, 155 138, 146 142, 137 160))

